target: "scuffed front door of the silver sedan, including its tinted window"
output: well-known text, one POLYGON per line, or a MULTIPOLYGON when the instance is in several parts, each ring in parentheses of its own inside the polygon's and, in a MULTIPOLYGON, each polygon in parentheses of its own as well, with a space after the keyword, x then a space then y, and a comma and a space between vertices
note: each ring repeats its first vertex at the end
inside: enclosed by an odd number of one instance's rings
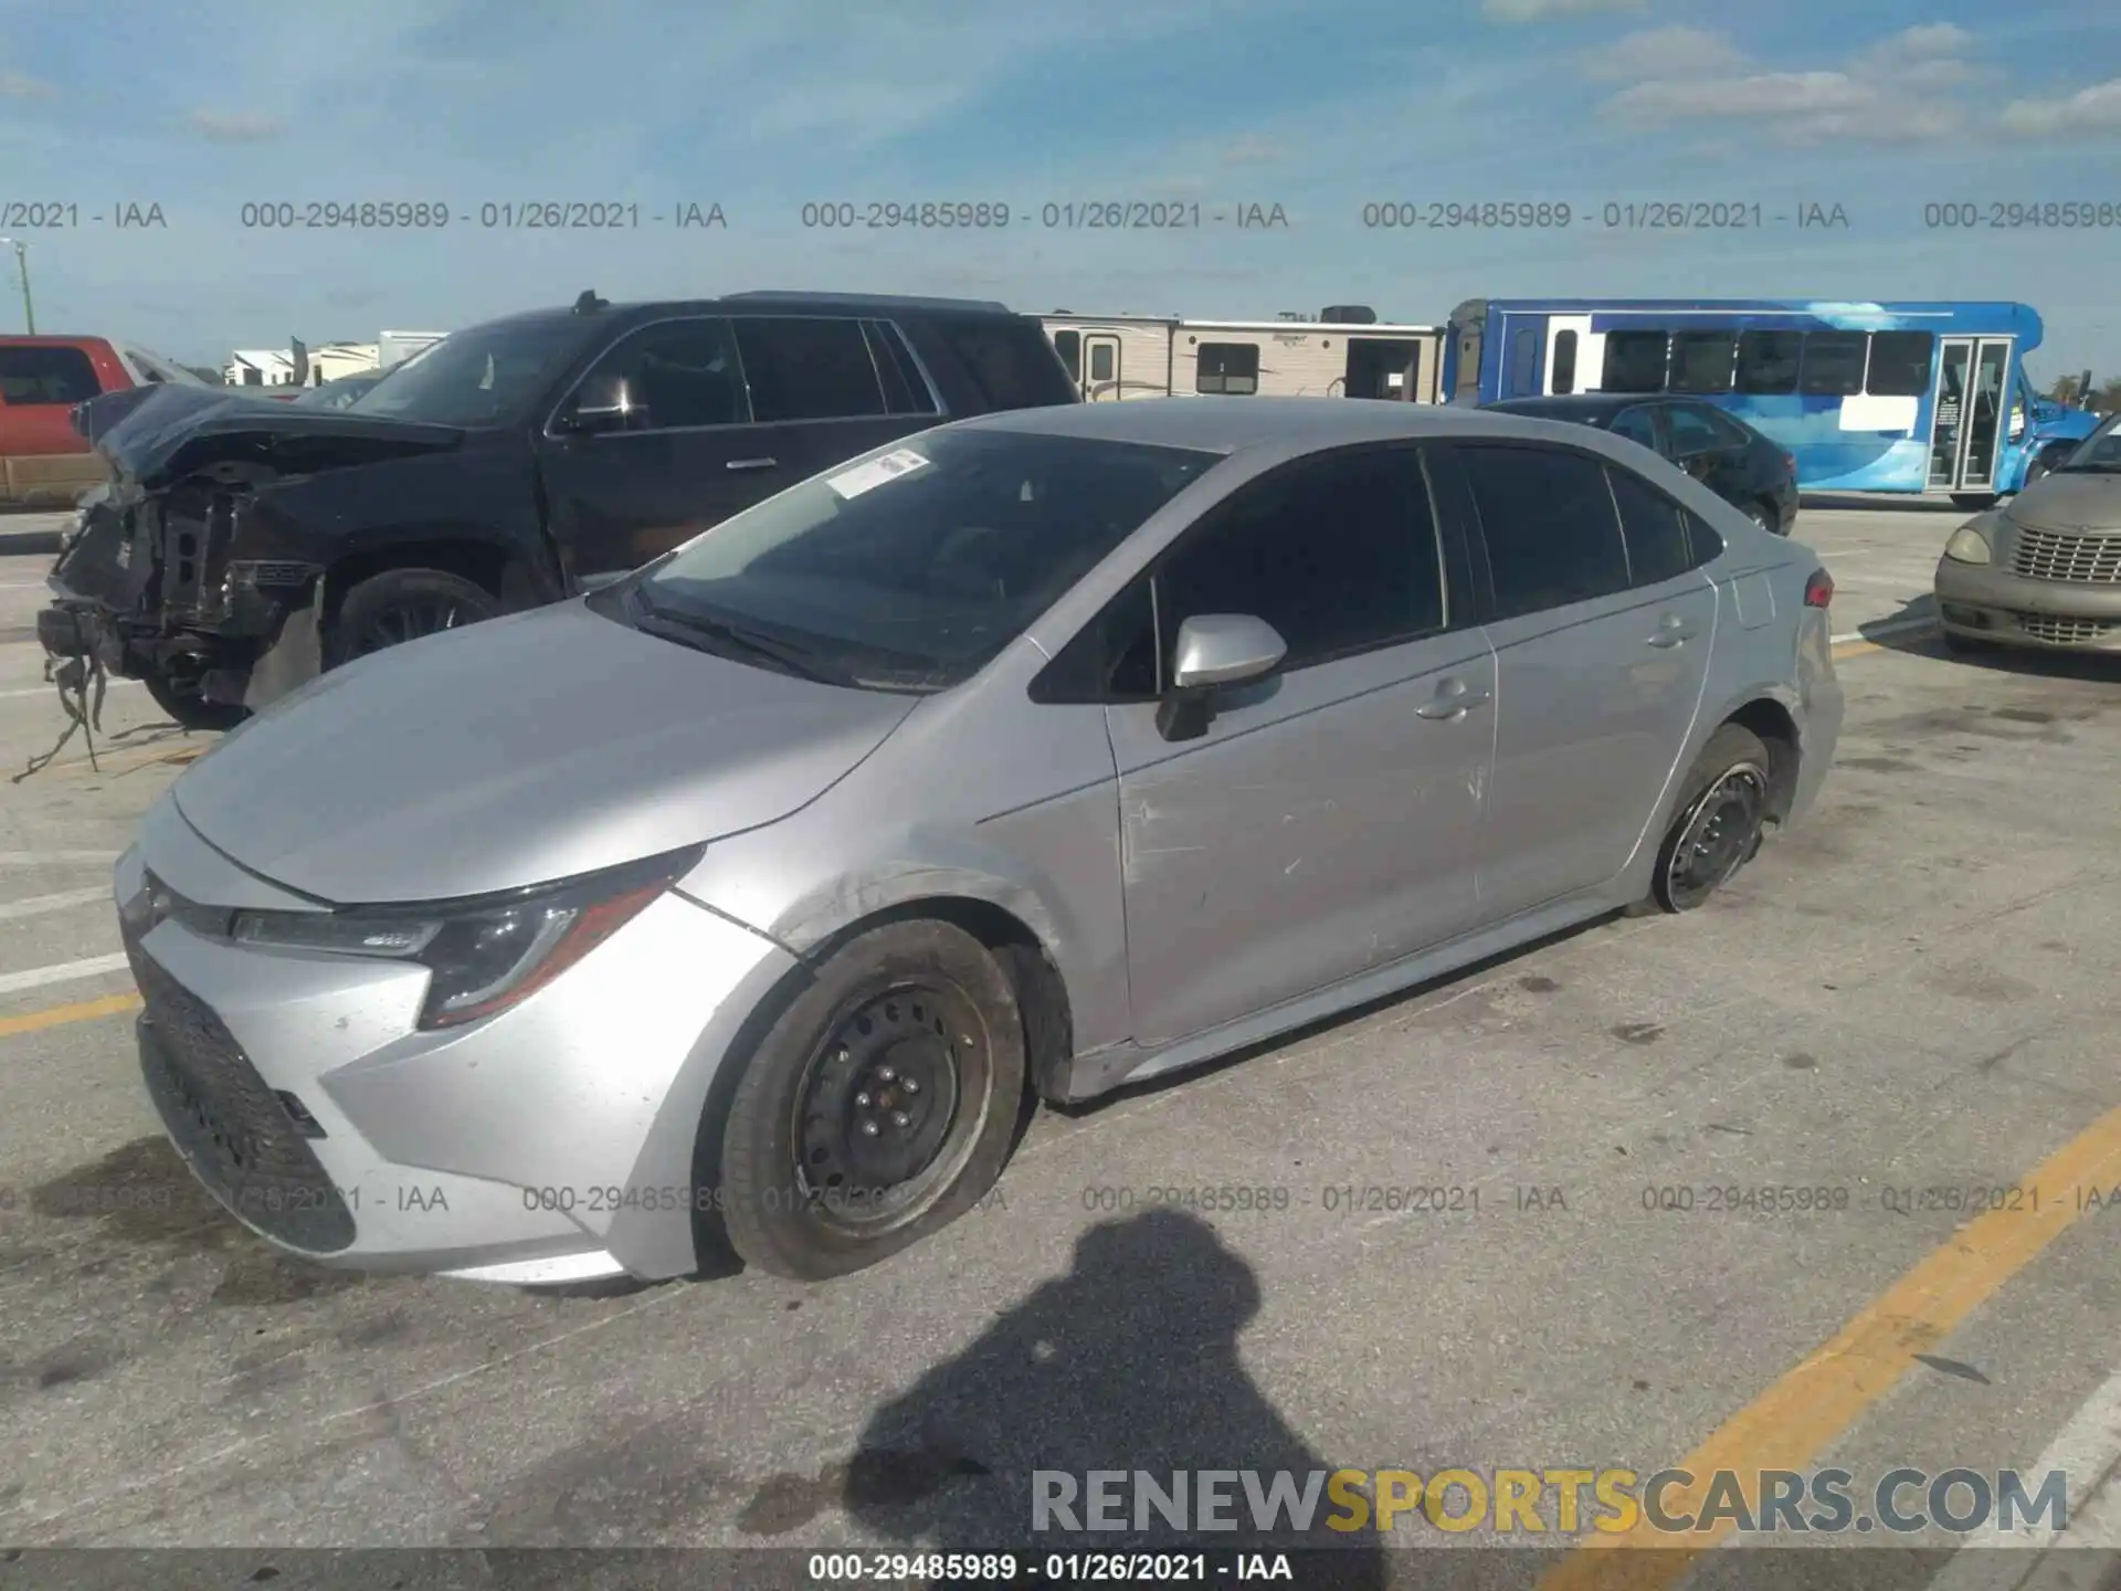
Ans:
POLYGON ((1156 700, 1107 709, 1139 1044, 1474 927, 1495 677, 1447 566, 1404 445, 1283 465, 1156 562, 1150 692, 1188 617, 1266 619, 1287 655, 1222 687, 1196 738, 1167 738, 1156 700))

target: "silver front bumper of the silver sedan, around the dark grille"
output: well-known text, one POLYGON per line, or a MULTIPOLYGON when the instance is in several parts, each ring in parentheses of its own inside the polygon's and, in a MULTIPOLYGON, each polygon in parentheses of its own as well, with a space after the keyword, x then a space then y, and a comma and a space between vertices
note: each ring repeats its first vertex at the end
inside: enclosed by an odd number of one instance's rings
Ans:
POLYGON ((325 1264, 515 1286, 698 1269, 702 1112, 793 967, 783 948, 668 893, 520 1006, 422 1033, 422 967, 201 927, 201 908, 314 902, 235 868, 168 798, 117 866, 121 908, 148 872, 185 908, 125 927, 142 1080, 246 1226, 325 1264))

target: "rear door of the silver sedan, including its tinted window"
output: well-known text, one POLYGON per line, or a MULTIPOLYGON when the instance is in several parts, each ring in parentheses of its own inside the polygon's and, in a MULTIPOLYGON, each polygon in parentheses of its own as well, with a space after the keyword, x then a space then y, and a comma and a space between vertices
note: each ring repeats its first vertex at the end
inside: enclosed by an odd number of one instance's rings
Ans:
POLYGON ((1648 539, 1637 577, 1606 479, 1620 471, 1589 452, 1468 441, 1453 460, 1500 698, 1480 906, 1510 916, 1627 863, 1701 704, 1716 590, 1648 539))

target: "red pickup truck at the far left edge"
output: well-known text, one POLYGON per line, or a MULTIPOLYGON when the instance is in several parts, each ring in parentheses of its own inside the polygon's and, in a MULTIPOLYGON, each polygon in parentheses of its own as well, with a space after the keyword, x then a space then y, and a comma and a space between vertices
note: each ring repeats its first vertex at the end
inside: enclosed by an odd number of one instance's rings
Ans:
POLYGON ((204 386, 180 365, 108 337, 0 337, 0 507, 68 509, 110 477, 72 426, 76 403, 132 386, 204 386))

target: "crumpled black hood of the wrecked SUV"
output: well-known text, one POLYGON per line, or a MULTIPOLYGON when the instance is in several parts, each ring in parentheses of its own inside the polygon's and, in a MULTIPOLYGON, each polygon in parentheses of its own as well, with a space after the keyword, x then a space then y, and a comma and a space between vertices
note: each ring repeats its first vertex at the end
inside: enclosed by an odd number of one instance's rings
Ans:
POLYGON ((89 399, 74 405, 72 422, 121 482, 142 490, 214 465, 312 475, 464 441, 458 426, 271 403, 242 388, 170 384, 89 399))

